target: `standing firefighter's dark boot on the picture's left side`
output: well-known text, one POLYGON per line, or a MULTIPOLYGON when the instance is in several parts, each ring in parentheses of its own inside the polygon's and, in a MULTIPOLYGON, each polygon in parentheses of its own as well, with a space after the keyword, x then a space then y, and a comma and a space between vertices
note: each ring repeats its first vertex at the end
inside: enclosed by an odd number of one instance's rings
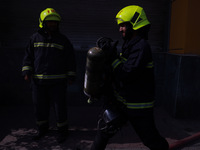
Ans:
POLYGON ((48 131, 49 131, 48 122, 38 125, 38 131, 37 134, 33 137, 33 140, 40 140, 47 134, 48 131))

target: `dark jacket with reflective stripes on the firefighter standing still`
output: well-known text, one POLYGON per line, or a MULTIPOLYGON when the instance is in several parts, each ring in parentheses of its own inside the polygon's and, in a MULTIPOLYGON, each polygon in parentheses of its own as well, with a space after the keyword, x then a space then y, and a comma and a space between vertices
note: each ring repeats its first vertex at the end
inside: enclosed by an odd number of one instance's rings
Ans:
POLYGON ((30 38, 23 59, 22 75, 38 84, 57 83, 75 76, 74 49, 66 36, 49 36, 43 29, 30 38))

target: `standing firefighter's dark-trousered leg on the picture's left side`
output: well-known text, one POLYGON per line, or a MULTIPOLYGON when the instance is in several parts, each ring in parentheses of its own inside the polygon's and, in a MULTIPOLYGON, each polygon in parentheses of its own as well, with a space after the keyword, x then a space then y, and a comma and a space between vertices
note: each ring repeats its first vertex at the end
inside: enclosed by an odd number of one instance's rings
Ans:
POLYGON ((47 89, 44 86, 33 85, 33 104, 36 117, 36 125, 38 127, 37 135, 33 138, 39 140, 45 136, 49 130, 49 99, 47 89))

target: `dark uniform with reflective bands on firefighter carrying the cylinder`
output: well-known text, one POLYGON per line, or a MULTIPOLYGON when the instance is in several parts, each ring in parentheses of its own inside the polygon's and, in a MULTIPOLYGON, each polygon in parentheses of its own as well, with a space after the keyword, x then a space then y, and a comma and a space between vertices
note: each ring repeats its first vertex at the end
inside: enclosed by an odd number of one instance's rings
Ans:
MULTIPOLYGON (((145 38, 136 36, 126 40, 120 57, 112 63, 112 67, 117 111, 122 116, 121 125, 130 121, 144 145, 151 150, 167 150, 168 143, 160 136, 154 123, 153 61, 151 48, 145 38)), ((92 150, 105 149, 109 138, 115 134, 110 129, 98 131, 92 150)))

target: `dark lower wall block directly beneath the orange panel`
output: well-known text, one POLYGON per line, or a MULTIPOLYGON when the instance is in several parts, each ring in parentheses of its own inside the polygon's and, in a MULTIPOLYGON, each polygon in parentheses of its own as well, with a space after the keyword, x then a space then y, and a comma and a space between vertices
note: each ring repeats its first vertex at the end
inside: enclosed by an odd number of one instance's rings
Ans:
POLYGON ((155 53, 158 105, 176 118, 200 116, 200 56, 155 53))

